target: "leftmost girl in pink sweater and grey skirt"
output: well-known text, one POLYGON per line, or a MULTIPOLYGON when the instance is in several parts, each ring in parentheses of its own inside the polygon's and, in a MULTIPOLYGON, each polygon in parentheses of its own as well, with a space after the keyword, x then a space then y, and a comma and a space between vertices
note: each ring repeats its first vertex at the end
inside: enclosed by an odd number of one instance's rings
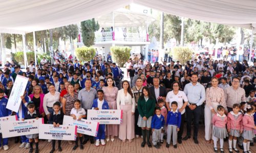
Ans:
POLYGON ((217 149, 217 141, 220 139, 220 151, 223 153, 223 143, 224 138, 226 138, 227 130, 226 130, 226 124, 227 124, 227 116, 224 114, 224 107, 218 106, 217 107, 218 113, 212 117, 211 123, 214 125, 214 129, 212 130, 212 139, 214 139, 214 151, 218 152, 217 149))

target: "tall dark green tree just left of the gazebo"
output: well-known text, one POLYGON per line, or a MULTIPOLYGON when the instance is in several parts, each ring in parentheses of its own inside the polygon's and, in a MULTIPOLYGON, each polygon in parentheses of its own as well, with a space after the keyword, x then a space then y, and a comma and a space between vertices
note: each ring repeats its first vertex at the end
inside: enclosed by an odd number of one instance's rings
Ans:
POLYGON ((95 31, 99 30, 99 24, 95 22, 95 19, 90 19, 81 22, 82 42, 86 46, 92 46, 95 39, 95 31))

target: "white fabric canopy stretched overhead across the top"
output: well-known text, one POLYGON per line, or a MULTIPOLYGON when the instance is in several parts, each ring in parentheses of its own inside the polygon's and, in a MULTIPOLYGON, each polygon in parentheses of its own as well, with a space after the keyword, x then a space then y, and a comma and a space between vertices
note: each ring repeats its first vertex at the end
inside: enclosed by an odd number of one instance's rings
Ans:
POLYGON ((0 0, 0 33, 24 35, 57 28, 131 3, 191 19, 244 28, 256 25, 253 0, 0 0))

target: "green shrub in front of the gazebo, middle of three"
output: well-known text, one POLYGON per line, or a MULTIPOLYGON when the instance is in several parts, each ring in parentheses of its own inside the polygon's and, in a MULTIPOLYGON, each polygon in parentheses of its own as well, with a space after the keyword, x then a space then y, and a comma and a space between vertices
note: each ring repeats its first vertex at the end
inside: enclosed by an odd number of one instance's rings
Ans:
POLYGON ((130 47, 112 46, 110 48, 113 61, 122 67, 124 63, 130 58, 130 47))

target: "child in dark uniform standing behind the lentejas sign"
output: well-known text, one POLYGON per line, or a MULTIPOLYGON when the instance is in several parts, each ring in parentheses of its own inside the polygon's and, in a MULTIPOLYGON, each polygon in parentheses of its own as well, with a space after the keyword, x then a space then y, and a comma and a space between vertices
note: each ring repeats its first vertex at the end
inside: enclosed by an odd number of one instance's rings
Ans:
MULTIPOLYGON (((50 114, 49 117, 49 123, 53 124, 54 127, 59 127, 63 123, 63 112, 60 111, 60 103, 57 101, 53 104, 53 112, 50 114)), ((52 150, 50 153, 53 153, 55 151, 55 143, 56 140, 52 140, 52 150)), ((62 151, 62 148, 60 147, 61 140, 58 140, 58 151, 62 151)))

